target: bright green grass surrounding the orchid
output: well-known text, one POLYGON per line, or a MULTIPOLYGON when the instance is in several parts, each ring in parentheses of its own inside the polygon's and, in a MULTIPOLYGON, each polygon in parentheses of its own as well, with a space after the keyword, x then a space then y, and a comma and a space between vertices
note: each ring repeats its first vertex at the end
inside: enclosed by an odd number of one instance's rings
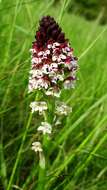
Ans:
MULTIPOLYGON (((38 21, 60 22, 79 57, 76 88, 62 92, 73 108, 52 134, 47 150, 46 190, 107 189, 107 26, 64 12, 67 1, 0 2, 0 189, 35 190, 38 158, 31 150, 40 123, 27 93, 29 49, 38 21)), ((100 14, 100 13, 99 13, 100 14)))

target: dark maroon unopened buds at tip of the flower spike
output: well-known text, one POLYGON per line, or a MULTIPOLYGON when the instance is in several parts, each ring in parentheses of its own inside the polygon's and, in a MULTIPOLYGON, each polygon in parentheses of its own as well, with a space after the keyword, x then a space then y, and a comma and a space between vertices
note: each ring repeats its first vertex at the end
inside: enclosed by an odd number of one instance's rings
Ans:
POLYGON ((66 41, 65 35, 58 23, 53 17, 44 16, 39 22, 39 29, 36 32, 36 43, 38 47, 45 47, 49 40, 64 43, 66 41))

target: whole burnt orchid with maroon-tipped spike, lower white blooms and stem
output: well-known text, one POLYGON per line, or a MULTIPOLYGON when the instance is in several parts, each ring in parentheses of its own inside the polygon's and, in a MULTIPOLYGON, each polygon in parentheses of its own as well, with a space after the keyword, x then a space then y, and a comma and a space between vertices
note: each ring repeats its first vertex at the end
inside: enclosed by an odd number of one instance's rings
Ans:
MULTIPOLYGON (((51 136, 54 127, 62 126, 61 117, 72 112, 71 107, 59 100, 60 94, 62 89, 74 88, 78 65, 77 58, 73 55, 73 48, 53 17, 45 16, 40 20, 35 38, 30 50, 32 64, 28 92, 36 91, 43 94, 31 102, 30 107, 32 114, 38 112, 44 119, 37 128, 39 140, 36 139, 32 143, 32 150, 39 153, 39 165, 45 170, 44 149, 48 144, 47 137, 51 136), (50 99, 54 101, 53 107, 49 105, 50 99), (51 112, 50 107, 52 107, 51 112), (50 121, 49 114, 52 118, 52 112, 53 119, 50 121)), ((43 176, 44 174, 42 178, 43 176)), ((44 189, 43 184, 38 189, 44 189)))

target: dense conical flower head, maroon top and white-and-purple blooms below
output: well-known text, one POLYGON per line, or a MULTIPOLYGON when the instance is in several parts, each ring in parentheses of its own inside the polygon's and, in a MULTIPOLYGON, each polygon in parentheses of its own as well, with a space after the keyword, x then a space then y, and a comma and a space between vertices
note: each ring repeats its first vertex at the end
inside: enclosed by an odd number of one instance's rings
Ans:
POLYGON ((63 88, 74 88, 77 58, 53 17, 40 20, 31 55, 29 92, 44 90, 46 95, 60 96, 63 88))

